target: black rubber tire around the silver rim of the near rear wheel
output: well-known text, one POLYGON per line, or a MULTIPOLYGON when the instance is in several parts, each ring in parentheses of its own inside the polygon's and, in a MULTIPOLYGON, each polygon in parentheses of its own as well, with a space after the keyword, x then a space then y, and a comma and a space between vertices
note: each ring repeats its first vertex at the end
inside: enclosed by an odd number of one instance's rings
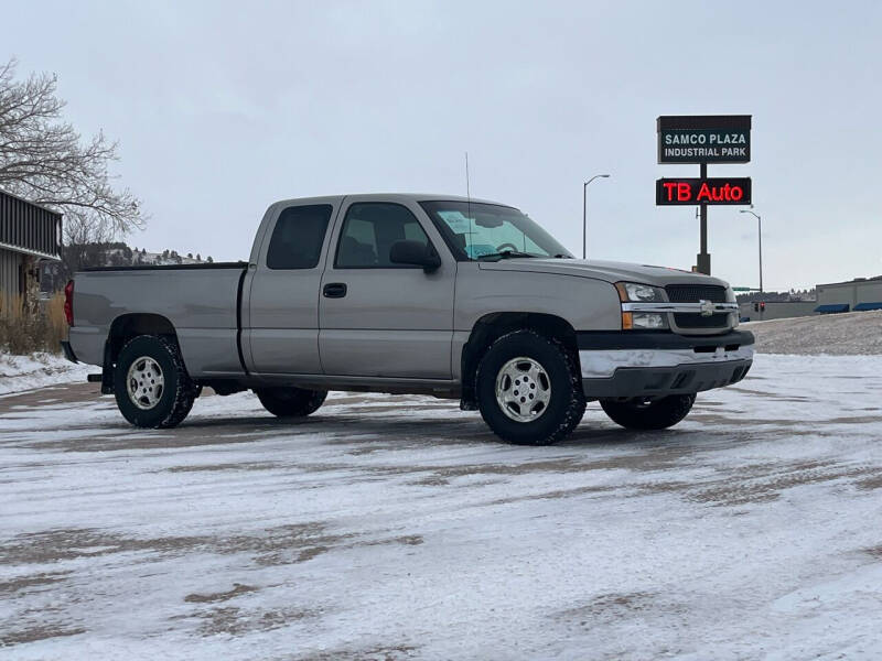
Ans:
MULTIPOLYGON (((129 340, 117 358, 114 370, 114 394, 122 416, 135 426, 168 429, 186 418, 196 398, 196 388, 186 372, 178 343, 158 335, 139 335, 129 340), (163 386, 158 401, 147 408, 135 403, 129 393, 129 370, 143 358, 150 358, 162 370, 163 386)), ((147 402, 142 401, 142 405, 147 402)))

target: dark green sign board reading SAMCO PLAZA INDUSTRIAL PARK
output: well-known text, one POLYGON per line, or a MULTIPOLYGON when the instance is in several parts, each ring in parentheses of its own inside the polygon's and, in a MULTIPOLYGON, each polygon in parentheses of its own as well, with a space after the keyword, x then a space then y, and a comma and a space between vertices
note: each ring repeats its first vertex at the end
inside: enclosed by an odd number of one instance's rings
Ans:
POLYGON ((749 163, 750 115, 663 116, 656 120, 659 163, 749 163))

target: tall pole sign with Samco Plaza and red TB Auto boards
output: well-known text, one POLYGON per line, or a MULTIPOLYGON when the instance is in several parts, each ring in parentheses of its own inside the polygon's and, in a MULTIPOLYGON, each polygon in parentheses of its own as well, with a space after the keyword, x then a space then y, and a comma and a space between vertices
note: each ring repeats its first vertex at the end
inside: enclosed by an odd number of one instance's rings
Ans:
POLYGON ((751 160, 750 115, 663 116, 656 120, 659 163, 698 163, 699 177, 660 178, 656 182, 656 205, 698 205, 699 273, 710 275, 708 252, 708 206, 751 204, 747 178, 709 178, 708 163, 749 163, 751 160))

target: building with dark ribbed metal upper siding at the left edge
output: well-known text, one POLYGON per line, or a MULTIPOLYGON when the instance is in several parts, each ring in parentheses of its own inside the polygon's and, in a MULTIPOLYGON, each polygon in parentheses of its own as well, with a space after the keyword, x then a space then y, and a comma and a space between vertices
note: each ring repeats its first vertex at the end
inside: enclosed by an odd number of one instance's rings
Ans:
POLYGON ((0 191, 0 294, 39 292, 41 260, 61 260, 62 215, 0 191))

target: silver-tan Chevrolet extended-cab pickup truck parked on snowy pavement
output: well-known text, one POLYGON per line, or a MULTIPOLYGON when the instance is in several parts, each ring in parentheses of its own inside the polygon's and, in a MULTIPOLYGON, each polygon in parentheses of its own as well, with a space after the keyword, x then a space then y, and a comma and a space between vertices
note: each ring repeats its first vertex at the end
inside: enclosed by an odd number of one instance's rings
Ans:
POLYGON ((753 358, 725 282, 577 260, 518 209, 450 195, 279 202, 248 262, 92 269, 66 293, 67 358, 101 366, 143 427, 179 424, 203 387, 292 418, 347 390, 459 399, 548 444, 592 400, 671 426, 753 358))

